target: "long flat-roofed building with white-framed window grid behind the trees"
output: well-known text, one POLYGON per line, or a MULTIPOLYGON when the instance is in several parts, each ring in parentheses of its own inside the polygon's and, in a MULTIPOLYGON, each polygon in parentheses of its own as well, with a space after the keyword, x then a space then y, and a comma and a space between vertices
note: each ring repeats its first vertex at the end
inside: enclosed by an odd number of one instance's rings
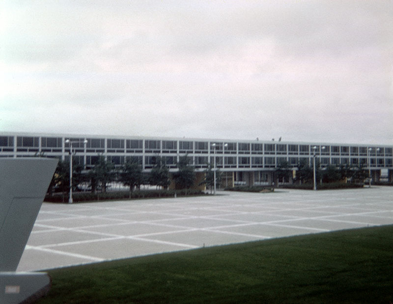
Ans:
MULTIPOLYGON (((320 166, 370 166, 373 178, 393 175, 393 146, 343 144, 327 142, 285 142, 262 140, 224 140, 197 138, 159 138, 135 136, 92 136, 71 134, 0 133, 0 157, 32 157, 45 155, 67 160, 72 142, 73 158, 86 169, 96 164, 99 155, 116 166, 133 158, 143 171, 151 170, 153 157, 159 155, 169 171, 176 170, 176 162, 188 155, 202 172, 207 164, 216 161, 224 173, 226 183, 235 185, 269 185, 273 172, 282 160, 296 169, 301 160, 312 165, 312 158, 320 166), (68 140, 67 140, 68 139, 68 140)), ((225 182, 224 182, 225 183, 225 182)))

